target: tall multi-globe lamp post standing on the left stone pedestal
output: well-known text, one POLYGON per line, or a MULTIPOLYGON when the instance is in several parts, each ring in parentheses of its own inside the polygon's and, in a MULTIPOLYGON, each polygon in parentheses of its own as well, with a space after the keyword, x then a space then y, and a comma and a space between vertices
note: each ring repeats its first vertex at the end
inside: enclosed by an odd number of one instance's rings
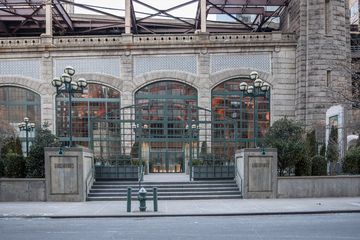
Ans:
POLYGON ((87 82, 84 78, 79 78, 77 81, 73 80, 75 69, 67 66, 60 78, 54 78, 52 85, 56 87, 56 95, 60 93, 67 93, 69 98, 69 147, 72 147, 72 97, 75 93, 83 93, 87 87, 87 82))

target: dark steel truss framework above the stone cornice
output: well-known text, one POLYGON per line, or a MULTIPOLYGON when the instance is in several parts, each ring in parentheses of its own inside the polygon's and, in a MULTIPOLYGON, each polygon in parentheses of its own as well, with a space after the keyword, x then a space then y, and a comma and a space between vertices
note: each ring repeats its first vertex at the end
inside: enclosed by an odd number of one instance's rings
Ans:
MULTIPOLYGON (((124 2, 126 0, 119 0, 124 2)), ((200 29, 202 0, 183 0, 160 9, 149 0, 130 0, 133 34, 186 34, 200 29), (179 3, 180 2, 180 3, 179 3), (180 16, 194 8, 194 15, 180 16), (145 10, 144 10, 145 9, 145 10), (175 14, 176 13, 176 14, 175 14)), ((279 29, 279 18, 291 0, 206 0, 209 33, 262 32, 279 29)), ((45 32, 47 0, 0 0, 0 36, 39 36, 45 32)), ((105 35, 125 32, 125 9, 52 0, 54 35, 105 35), (78 10, 66 11, 65 6, 78 10), (86 12, 86 13, 84 13, 86 12)), ((121 6, 121 4, 119 4, 121 6)), ((71 8, 70 8, 71 9, 71 8)))

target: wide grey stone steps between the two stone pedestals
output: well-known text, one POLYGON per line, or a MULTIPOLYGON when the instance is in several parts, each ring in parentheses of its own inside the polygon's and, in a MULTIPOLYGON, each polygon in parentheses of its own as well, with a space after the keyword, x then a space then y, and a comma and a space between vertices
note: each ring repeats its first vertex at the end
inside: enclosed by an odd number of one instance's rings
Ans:
MULTIPOLYGON (((158 188, 158 200, 235 199, 241 193, 234 180, 193 182, 143 182, 152 199, 153 188, 158 188)), ((138 182, 95 181, 87 201, 126 201, 127 188, 132 188, 132 199, 137 200, 138 182)))

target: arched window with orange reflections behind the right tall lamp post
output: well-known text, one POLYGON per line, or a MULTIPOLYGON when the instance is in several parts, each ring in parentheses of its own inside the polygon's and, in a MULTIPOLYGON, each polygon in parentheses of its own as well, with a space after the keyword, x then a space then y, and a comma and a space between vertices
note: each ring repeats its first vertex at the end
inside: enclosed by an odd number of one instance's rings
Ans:
MULTIPOLYGON (((252 84, 249 78, 239 77, 222 82, 212 90, 211 108, 217 113, 214 121, 220 125, 226 117, 237 121, 235 136, 240 142, 237 148, 261 146, 270 125, 270 94, 246 95, 240 91, 241 82, 252 84)), ((216 133, 213 137, 219 140, 231 134, 226 131, 216 133)))

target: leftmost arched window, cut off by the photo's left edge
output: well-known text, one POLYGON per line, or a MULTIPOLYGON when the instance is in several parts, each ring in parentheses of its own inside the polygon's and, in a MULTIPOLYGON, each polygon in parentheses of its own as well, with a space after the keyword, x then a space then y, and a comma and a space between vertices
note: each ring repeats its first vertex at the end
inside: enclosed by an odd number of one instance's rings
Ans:
MULTIPOLYGON (((26 134, 20 132, 18 124, 28 117, 29 121, 41 126, 40 95, 21 87, 0 87, 0 122, 9 123, 20 136, 23 153, 26 152, 26 134)), ((34 138, 35 132, 29 132, 29 143, 34 138)))

